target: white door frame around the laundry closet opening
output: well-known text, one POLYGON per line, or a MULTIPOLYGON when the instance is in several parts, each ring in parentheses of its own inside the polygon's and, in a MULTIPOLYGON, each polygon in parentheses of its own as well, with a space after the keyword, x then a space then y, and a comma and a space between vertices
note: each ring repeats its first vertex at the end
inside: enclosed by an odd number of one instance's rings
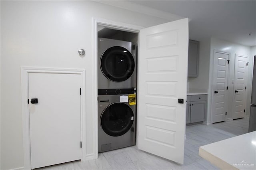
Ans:
MULTIPOLYGON (((133 32, 133 33, 139 33, 141 29, 144 27, 141 26, 135 26, 131 24, 126 24, 123 22, 116 22, 112 20, 106 20, 102 18, 92 18, 92 49, 93 53, 92 56, 94 59, 92 60, 92 65, 94 69, 92 70, 92 76, 94 77, 94 86, 92 87, 92 113, 93 113, 93 154, 94 154, 94 159, 98 158, 98 25, 100 26, 105 26, 106 28, 111 28, 114 30, 122 30, 126 32, 133 32)), ((139 41, 139 40, 138 40, 139 41)), ((139 57, 137 55, 137 57, 139 57)), ((137 64, 139 65, 139 63, 137 64)), ((139 81, 138 81, 139 84, 139 81)), ((137 133, 138 134, 138 133, 137 133)))

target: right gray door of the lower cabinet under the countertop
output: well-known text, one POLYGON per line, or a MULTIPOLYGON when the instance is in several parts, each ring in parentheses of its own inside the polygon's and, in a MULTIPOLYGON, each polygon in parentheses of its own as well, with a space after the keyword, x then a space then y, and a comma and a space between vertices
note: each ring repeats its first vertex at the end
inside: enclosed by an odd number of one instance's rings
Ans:
POLYGON ((190 123, 205 121, 206 101, 191 102, 190 123))

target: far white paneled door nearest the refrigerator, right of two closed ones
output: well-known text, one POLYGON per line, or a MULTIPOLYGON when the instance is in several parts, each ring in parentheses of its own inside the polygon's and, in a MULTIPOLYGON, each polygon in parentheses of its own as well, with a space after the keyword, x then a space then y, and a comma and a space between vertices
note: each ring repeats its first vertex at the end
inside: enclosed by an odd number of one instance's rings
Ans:
POLYGON ((248 57, 235 55, 233 119, 245 115, 248 57))

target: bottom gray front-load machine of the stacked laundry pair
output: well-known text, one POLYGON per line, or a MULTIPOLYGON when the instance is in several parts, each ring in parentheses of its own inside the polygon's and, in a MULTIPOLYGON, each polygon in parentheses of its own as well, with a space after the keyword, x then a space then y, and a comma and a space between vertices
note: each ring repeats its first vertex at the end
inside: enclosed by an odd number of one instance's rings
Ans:
POLYGON ((98 96, 99 152, 135 145, 136 105, 129 105, 127 97, 128 95, 98 96))

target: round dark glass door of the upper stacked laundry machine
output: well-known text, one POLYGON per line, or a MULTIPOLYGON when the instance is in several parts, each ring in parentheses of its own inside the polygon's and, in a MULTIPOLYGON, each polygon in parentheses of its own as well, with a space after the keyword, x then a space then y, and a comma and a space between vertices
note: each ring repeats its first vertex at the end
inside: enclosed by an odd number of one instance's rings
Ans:
POLYGON ((112 81, 125 81, 131 77, 135 63, 132 54, 124 47, 107 49, 100 59, 102 73, 112 81))

